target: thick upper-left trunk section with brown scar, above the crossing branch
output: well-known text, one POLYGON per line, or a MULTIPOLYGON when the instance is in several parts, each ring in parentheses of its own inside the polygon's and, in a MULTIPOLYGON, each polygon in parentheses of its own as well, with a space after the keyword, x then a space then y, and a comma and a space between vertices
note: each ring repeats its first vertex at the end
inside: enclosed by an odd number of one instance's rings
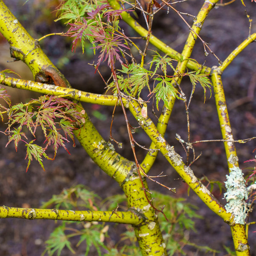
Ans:
POLYGON ((35 81, 69 87, 67 79, 44 54, 38 41, 26 32, 2 0, 0 0, 0 17, 0 32, 10 44, 11 57, 26 63, 35 81))

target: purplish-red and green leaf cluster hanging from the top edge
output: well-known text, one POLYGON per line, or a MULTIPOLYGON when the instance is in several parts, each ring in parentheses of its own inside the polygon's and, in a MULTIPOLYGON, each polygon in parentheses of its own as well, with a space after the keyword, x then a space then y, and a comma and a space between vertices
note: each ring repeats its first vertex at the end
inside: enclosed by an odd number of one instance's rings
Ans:
POLYGON ((64 20, 70 26, 66 35, 74 38, 72 51, 80 41, 84 53, 85 41, 88 40, 93 49, 100 50, 97 67, 106 60, 113 67, 116 60, 123 64, 121 48, 129 49, 124 41, 128 38, 122 32, 118 34, 118 20, 124 11, 113 10, 104 1, 66 1, 59 9, 57 20, 64 20))

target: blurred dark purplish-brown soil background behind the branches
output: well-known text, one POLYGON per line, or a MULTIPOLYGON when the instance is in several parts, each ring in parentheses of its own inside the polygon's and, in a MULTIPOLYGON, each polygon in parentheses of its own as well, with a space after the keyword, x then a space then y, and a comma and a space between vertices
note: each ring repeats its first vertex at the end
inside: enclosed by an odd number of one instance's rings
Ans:
MULTIPOLYGON (((41 38, 41 36, 52 32, 67 31, 67 28, 62 26, 61 22, 53 22, 56 17, 53 11, 59 4, 58 0, 29 0, 25 5, 23 5, 24 0, 8 0, 4 2, 35 38, 41 38)), ((192 15, 196 15, 203 2, 203 0, 188 0, 176 4, 175 7, 180 12, 189 12, 192 15)), ((252 32, 255 32, 256 3, 251 3, 249 0, 244 0, 244 3, 247 7, 247 13, 253 19, 252 32)), ((220 6, 213 9, 205 21, 200 35, 204 41, 211 44, 210 48, 222 61, 249 34, 249 21, 244 9, 245 7, 242 6, 241 1, 236 0, 229 6, 220 6)), ((170 47, 181 52, 189 29, 176 13, 170 11, 168 15, 166 12, 158 12, 154 17, 153 34, 161 38, 170 47)), ((138 15, 141 16, 141 23, 144 24, 142 15, 140 13, 138 15)), ((186 17, 186 20, 191 22, 192 18, 186 17)), ((124 26, 127 27, 126 25, 124 26)), ((131 29, 129 32, 131 36, 137 36, 131 29)), ((96 60, 90 45, 82 55, 79 47, 77 47, 76 53, 71 52, 71 43, 72 40, 69 38, 51 36, 41 41, 40 45, 74 88, 92 93, 104 93, 104 83, 98 74, 94 74, 94 68, 87 64, 96 60)), ((149 46, 149 48, 154 49, 152 46, 149 46)), ((192 58, 196 58, 199 63, 205 62, 209 67, 218 65, 218 61, 211 54, 207 57, 204 56, 204 48, 199 40, 192 53, 192 58)), ((9 45, 2 38, 0 43, 0 68, 2 70, 10 68, 15 70, 23 79, 32 79, 32 75, 25 64, 21 61, 7 63, 8 60, 12 61, 12 58, 9 57, 9 45)), ((107 67, 102 65, 99 70, 105 78, 108 78, 109 71, 107 67)), ((247 49, 241 52, 227 70, 224 71, 222 78, 234 139, 239 140, 256 136, 256 101, 254 99, 256 87, 255 43, 250 44, 247 49)), ((183 80, 182 88, 188 95, 192 85, 188 80, 183 80)), ((13 103, 20 102, 20 100, 26 101, 31 96, 37 96, 35 93, 16 89, 10 93, 12 94, 13 103)), ((143 93, 143 98, 146 99, 147 92, 143 93)), ((113 108, 87 104, 84 106, 96 128, 108 140, 111 122, 109 116, 111 116, 113 108)), ((156 121, 151 113, 149 115, 156 121)), ((137 126, 130 115, 129 118, 131 124, 137 126)), ((203 90, 199 86, 195 90, 190 106, 190 122, 192 141, 221 139, 214 96, 209 98, 208 91, 204 104, 203 90)), ((5 130, 4 127, 1 124, 2 131, 5 130)), ((175 150, 185 159, 184 150, 175 139, 176 133, 186 140, 185 108, 184 104, 178 101, 175 104, 170 124, 167 128, 166 139, 171 145, 175 145, 175 150)), ((133 160, 121 109, 116 111, 112 134, 116 140, 123 143, 122 149, 116 147, 117 151, 128 159, 133 160)), ((0 205, 38 208, 42 202, 48 201, 53 194, 59 194, 62 189, 79 183, 88 186, 102 198, 122 193, 119 186, 113 183, 113 180, 90 160, 78 142, 75 148, 72 143, 67 144, 70 155, 60 148, 55 161, 45 161, 46 172, 41 169, 38 163, 32 163, 26 173, 27 162, 24 160, 26 153, 22 145, 16 152, 13 144, 5 148, 7 137, 1 135, 0 138, 0 148, 2 148, 0 157, 0 205)), ((140 130, 137 130, 135 138, 141 145, 147 147, 150 145, 148 137, 140 130)), ((40 134, 38 134, 37 140, 38 142, 42 140, 43 143, 43 137, 40 134)), ((256 142, 237 144, 236 147, 240 167, 248 175, 253 165, 244 163, 244 161, 254 158, 255 152, 253 153, 253 150, 256 148, 256 142)), ((196 155, 202 152, 201 157, 192 165, 197 177, 206 175, 209 180, 225 181, 227 160, 223 143, 199 143, 195 145, 195 152, 196 155)), ((137 155, 139 160, 142 160, 145 151, 137 148, 137 155)), ((219 250, 218 256, 227 255, 224 245, 231 247, 233 250, 230 227, 211 212, 193 192, 190 191, 189 196, 187 195, 186 184, 179 179, 172 167, 159 154, 150 174, 158 175, 162 171, 168 175, 168 177, 164 178, 164 183, 167 186, 177 188, 177 194, 174 196, 187 198, 187 201, 198 207, 197 213, 204 217, 196 221, 198 232, 191 231, 188 233, 190 241, 219 250)), ((150 189, 169 193, 169 191, 164 190, 155 183, 148 183, 150 189)), ((223 201, 223 194, 220 195, 217 187, 213 193, 220 201, 223 201)), ((252 213, 250 220, 253 220, 253 216, 256 217, 252 213)), ((2 219, 0 221, 0 254, 2 256, 41 255, 44 250, 44 241, 48 239, 49 234, 57 224, 57 222, 47 220, 2 219)), ((116 232, 116 235, 112 235, 112 238, 117 239, 122 229, 122 225, 111 226, 110 232, 116 232)), ((252 233, 255 230, 256 227, 253 225, 249 228, 252 256, 256 255, 256 245, 254 243, 256 235, 252 233)), ((212 255, 212 253, 202 252, 196 254, 194 251, 189 252, 189 249, 191 247, 188 247, 186 255, 212 255)), ((76 255, 84 255, 83 252, 84 247, 79 247, 76 255)), ((61 255, 70 255, 70 252, 64 250, 61 255)), ((89 255, 96 255, 96 252, 92 251, 89 255)))

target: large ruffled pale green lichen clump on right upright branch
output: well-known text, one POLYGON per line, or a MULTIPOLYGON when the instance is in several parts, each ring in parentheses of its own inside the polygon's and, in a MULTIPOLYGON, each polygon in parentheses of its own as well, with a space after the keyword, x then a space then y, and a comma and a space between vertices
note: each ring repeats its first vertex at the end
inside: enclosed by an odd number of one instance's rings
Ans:
POLYGON ((247 216, 248 206, 246 200, 248 199, 248 192, 245 186, 243 173, 239 167, 230 169, 230 175, 226 175, 227 181, 225 186, 227 192, 224 198, 227 200, 225 208, 227 212, 231 212, 236 224, 244 224, 244 219, 247 216))

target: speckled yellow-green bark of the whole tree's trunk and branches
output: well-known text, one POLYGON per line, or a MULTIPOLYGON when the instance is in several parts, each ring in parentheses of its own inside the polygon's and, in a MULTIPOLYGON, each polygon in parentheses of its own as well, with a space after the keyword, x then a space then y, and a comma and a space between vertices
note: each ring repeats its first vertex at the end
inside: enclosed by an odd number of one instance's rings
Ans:
MULTIPOLYGON (((203 25, 208 12, 217 2, 218 0, 207 0, 204 2, 204 5, 197 17, 198 20, 192 26, 192 29, 196 33, 200 32, 201 26, 203 25)), ((115 0, 109 0, 109 3, 114 9, 120 8, 119 3, 117 3, 115 0)), ((0 83, 25 90, 33 90, 41 93, 68 97, 70 99, 89 102, 92 104, 108 106, 114 106, 116 104, 117 98, 115 96, 86 93, 80 90, 74 90, 72 88, 65 88, 69 87, 67 80, 56 69, 56 67, 53 66, 51 61, 49 61, 49 58, 47 58, 39 47, 38 42, 26 32, 26 30, 20 25, 17 19, 11 14, 1 0, 0 15, 2 17, 0 19, 0 31, 10 43, 12 56, 24 61, 30 67, 36 81, 44 82, 40 83, 7 77, 5 78, 3 75, 0 75, 0 83)), ((140 26, 127 12, 122 12, 121 15, 122 19, 128 23, 131 28, 138 32, 142 37, 147 37, 147 30, 143 29, 143 27, 140 26)), ((211 70, 209 67, 204 67, 195 61, 188 60, 194 47, 196 38, 197 35, 191 31, 181 54, 171 49, 166 44, 163 44, 162 41, 155 38, 153 35, 150 36, 149 41, 155 47, 178 61, 181 57, 183 57, 183 60, 185 61, 179 63, 176 73, 183 73, 186 68, 190 68, 192 70, 201 69, 201 72, 209 74, 211 70)), ((224 140, 227 140, 227 138, 229 140, 224 142, 224 144, 230 169, 234 166, 238 166, 238 158, 232 142, 233 136, 228 119, 227 106, 225 103, 224 91, 221 82, 221 73, 227 67, 227 65, 233 61, 237 54, 239 54, 248 44, 250 44, 250 42, 255 39, 256 33, 247 38, 237 49, 235 49, 227 57, 222 66, 214 67, 212 69, 212 83, 215 91, 221 131, 224 140)), ((177 81, 174 82, 174 85, 176 86, 177 84, 180 84, 180 81, 181 79, 177 79, 177 81)), ((160 149, 160 152, 166 157, 166 160, 173 166, 183 180, 189 184, 189 186, 202 199, 202 201, 204 201, 204 203, 210 209, 212 209, 213 212, 223 218, 225 222, 230 224, 237 255, 250 255, 244 225, 234 223, 231 213, 227 212, 224 206, 213 197, 209 190, 198 180, 197 177, 195 177, 192 169, 183 163, 182 158, 175 152, 174 147, 169 145, 164 139, 164 133, 171 114, 170 109, 172 109, 172 106, 175 103, 175 98, 170 98, 169 110, 167 108, 163 108, 163 113, 160 116, 160 119, 158 119, 157 127, 155 127, 151 119, 141 116, 141 106, 136 101, 131 101, 132 104, 128 104, 126 99, 123 99, 123 102, 124 105, 129 105, 129 110, 135 116, 146 134, 148 134, 152 141, 151 148, 160 149)), ((78 108, 81 111, 81 106, 78 108)), ((143 255, 167 255, 166 245, 163 242, 157 217, 154 209, 152 209, 147 198, 145 198, 144 190, 142 188, 134 162, 125 159, 120 154, 117 154, 113 146, 108 145, 108 143, 103 140, 87 116, 87 113, 84 114, 84 119, 84 127, 75 131, 75 135, 94 162, 98 164, 104 172, 116 180, 122 187, 125 195, 127 196, 129 211, 117 211, 114 213, 91 211, 73 212, 55 209, 22 209, 0 207, 0 218, 17 217, 33 219, 49 217, 48 219, 113 221, 116 223, 129 223, 134 226, 134 231, 143 255), (82 215, 84 215, 84 219, 81 218, 82 215), (119 218, 120 216, 122 216, 122 219, 119 218)), ((148 153, 143 160, 142 166, 146 172, 148 172, 153 165, 156 155, 157 153, 148 153)), ((144 179, 143 182, 145 189, 148 189, 147 183, 144 179)), ((147 195, 148 199, 150 200, 150 194, 147 193, 147 195)))

